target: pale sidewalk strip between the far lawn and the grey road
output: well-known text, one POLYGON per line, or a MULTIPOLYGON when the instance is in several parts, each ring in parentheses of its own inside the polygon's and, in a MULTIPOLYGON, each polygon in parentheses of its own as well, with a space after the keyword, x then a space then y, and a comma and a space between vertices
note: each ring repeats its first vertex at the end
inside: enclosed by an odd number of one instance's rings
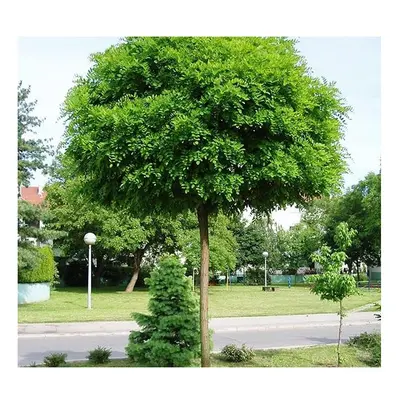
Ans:
MULTIPOLYGON (((344 320, 344 325, 379 324, 374 312, 352 312, 344 320)), ((337 314, 307 314, 280 315, 270 317, 232 317, 210 320, 210 328, 214 332, 253 331, 280 328, 301 328, 313 326, 338 326, 337 314)), ((19 324, 19 336, 31 335, 112 335, 128 334, 137 330, 134 321, 96 321, 96 322, 66 322, 44 324, 19 324)))

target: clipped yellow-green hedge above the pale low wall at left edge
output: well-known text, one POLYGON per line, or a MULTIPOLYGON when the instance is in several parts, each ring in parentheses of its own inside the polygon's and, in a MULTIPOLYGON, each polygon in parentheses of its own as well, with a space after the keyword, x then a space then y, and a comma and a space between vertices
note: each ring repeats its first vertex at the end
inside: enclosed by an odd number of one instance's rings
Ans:
POLYGON ((37 252, 40 263, 36 268, 24 268, 18 271, 18 283, 53 282, 57 275, 53 250, 49 246, 39 247, 37 252))

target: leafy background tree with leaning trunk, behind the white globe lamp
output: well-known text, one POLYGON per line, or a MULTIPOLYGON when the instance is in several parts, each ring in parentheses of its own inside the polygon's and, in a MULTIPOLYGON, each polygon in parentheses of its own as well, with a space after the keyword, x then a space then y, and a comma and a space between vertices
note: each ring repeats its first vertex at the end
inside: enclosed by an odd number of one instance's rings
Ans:
POLYGON ((139 220, 127 210, 92 203, 82 195, 84 184, 80 178, 68 178, 47 187, 47 204, 52 215, 48 226, 65 233, 55 244, 70 257, 84 258, 83 237, 87 232, 95 232, 94 286, 100 285, 106 264, 118 259, 127 261, 132 268, 125 289, 130 293, 139 277, 146 252, 156 256, 173 248, 179 223, 163 216, 139 220))

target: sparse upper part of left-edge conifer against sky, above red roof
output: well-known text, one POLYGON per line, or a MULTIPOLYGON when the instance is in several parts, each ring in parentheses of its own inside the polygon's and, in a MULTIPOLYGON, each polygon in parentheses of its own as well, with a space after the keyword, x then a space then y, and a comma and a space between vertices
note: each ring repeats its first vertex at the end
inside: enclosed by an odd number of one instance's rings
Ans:
POLYGON ((29 101, 31 87, 18 84, 18 185, 28 186, 36 170, 45 170, 45 158, 51 154, 47 140, 29 138, 43 119, 33 116, 37 100, 29 101))

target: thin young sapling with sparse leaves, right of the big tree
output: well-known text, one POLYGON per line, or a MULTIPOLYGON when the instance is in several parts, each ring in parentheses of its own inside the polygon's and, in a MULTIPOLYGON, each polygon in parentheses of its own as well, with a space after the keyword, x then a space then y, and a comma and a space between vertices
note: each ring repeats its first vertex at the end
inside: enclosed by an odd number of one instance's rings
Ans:
POLYGON ((341 274, 341 268, 347 255, 345 250, 351 245, 356 235, 352 229, 349 230, 347 223, 340 223, 335 230, 335 241, 338 251, 332 252, 329 246, 322 246, 320 251, 312 255, 313 261, 320 263, 323 273, 309 277, 311 292, 319 295, 321 300, 339 302, 339 335, 337 345, 337 365, 341 364, 340 344, 342 334, 342 322, 345 316, 343 310, 343 299, 357 293, 357 286, 351 275, 341 274))

